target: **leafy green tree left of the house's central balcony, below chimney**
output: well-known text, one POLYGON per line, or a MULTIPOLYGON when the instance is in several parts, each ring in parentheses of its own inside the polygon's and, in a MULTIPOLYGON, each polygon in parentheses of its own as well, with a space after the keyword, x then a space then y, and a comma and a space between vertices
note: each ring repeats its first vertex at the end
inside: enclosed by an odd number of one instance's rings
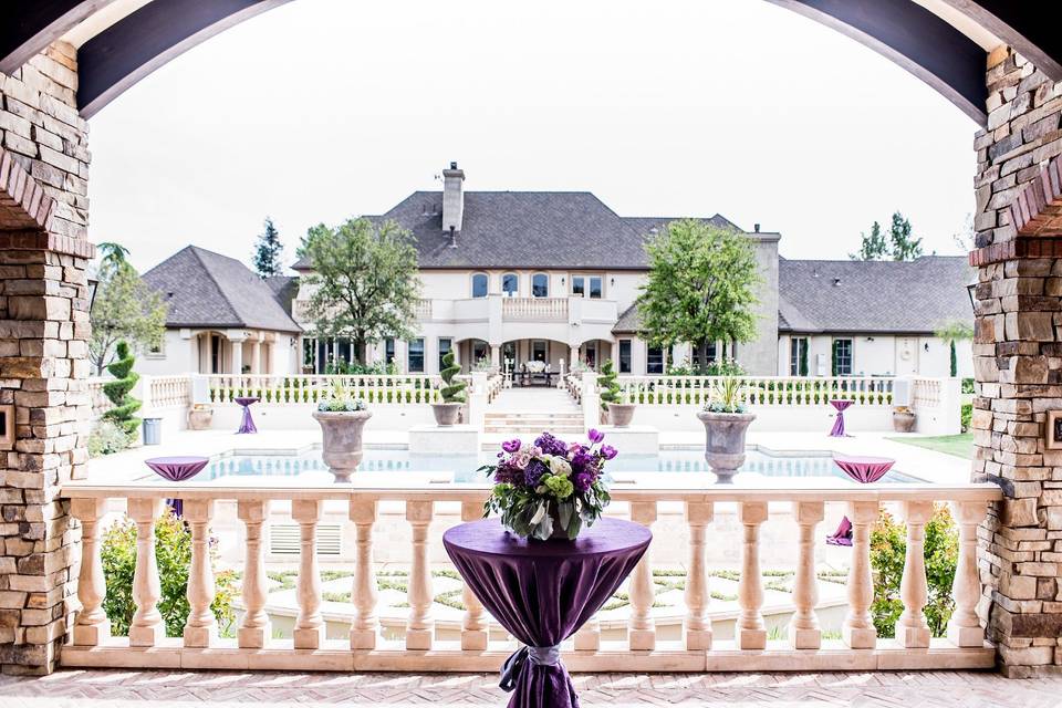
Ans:
POLYGON ((408 230, 364 218, 337 228, 321 223, 306 232, 299 256, 313 269, 304 282, 313 291, 308 315, 314 334, 350 337, 361 363, 369 342, 413 336, 420 279, 408 230))

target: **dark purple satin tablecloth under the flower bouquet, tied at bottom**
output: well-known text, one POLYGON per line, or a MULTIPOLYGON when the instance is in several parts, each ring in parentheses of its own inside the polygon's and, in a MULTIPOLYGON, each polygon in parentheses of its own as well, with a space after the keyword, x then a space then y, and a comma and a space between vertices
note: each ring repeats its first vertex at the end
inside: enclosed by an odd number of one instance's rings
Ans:
POLYGON ((527 541, 497 519, 442 534, 446 552, 483 607, 525 645, 506 662, 503 684, 514 679, 510 708, 577 708, 558 645, 605 604, 652 538, 645 527, 618 519, 601 519, 572 542, 527 541))

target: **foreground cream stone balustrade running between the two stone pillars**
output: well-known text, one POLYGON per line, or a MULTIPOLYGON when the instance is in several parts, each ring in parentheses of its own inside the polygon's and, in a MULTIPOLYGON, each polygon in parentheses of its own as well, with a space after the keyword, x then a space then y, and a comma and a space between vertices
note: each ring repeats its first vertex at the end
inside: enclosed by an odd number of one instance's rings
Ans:
MULTIPOLYGON (((367 478, 365 478, 367 479, 367 478)), ((61 662, 77 667, 292 669, 292 670, 497 670, 512 650, 510 642, 491 642, 490 618, 476 596, 462 591, 464 617, 460 641, 436 637, 433 617, 431 558, 444 519, 449 522, 478 519, 487 494, 483 488, 402 487, 391 481, 331 487, 218 487, 158 481, 145 486, 71 482, 63 497, 72 500, 72 513, 82 525, 82 559, 73 643, 63 647, 61 662), (154 530, 164 511, 165 498, 184 500, 184 518, 192 537, 191 571, 187 596, 191 608, 184 638, 164 638, 154 530), (136 523, 137 555, 133 579, 136 612, 129 636, 111 637, 103 610, 105 584, 100 555, 101 525, 111 499, 124 499, 136 523), (218 639, 210 604, 215 596, 209 527, 218 502, 236 502, 236 513, 246 531, 242 565, 244 612, 236 638, 218 639), (322 591, 317 556, 313 552, 322 509, 342 502, 348 510, 355 539, 352 579, 353 620, 350 638, 324 638, 322 591), (377 616, 374 527, 381 504, 404 507, 410 530, 408 559, 408 616, 404 635, 386 639, 377 616), (270 506, 289 506, 300 528, 298 617, 291 639, 273 638, 266 613, 267 579, 263 525, 270 506), (455 507, 459 508, 459 514, 455 507), (430 529, 430 533, 429 533, 430 529)), ((644 478, 643 478, 644 479, 644 478)), ((378 480, 378 478, 377 478, 378 480)), ((592 618, 563 647, 572 670, 594 671, 704 671, 712 670, 875 670, 930 668, 988 668, 993 650, 983 643, 976 605, 982 586, 977 569, 977 528, 989 502, 1000 499, 991 485, 906 486, 845 488, 742 489, 689 481, 685 486, 653 486, 639 480, 617 480, 613 487, 623 512, 647 527, 657 520, 662 504, 678 502, 685 529, 662 534, 634 570, 629 580, 626 638, 611 642, 602 636, 601 623, 592 618), (625 502, 625 503, 624 503, 625 502), (955 612, 946 638, 930 638, 924 614, 927 579, 924 559, 926 523, 935 502, 948 502, 959 529, 959 555, 951 589, 955 612), (882 506, 906 521, 906 562, 900 596, 904 613, 895 639, 879 639, 871 616, 874 585, 871 569, 871 527, 882 506), (815 548, 822 542, 820 522, 826 510, 831 519, 844 512, 853 523, 853 546, 847 576, 847 608, 842 639, 825 639, 816 616, 818 577, 815 548), (740 581, 736 638, 714 638, 709 614, 707 544, 722 532, 714 523, 717 512, 735 513, 741 534, 740 581), (769 641, 763 618, 764 587, 760 573, 760 530, 769 517, 791 514, 794 559, 793 617, 787 641, 769 641), (663 544, 663 545, 662 545, 663 544), (658 636, 652 613, 654 604, 654 549, 673 552, 685 545, 683 571, 669 571, 685 587, 683 633, 678 641, 658 636)), ((228 504, 226 504, 228 506, 228 504)), ((394 543, 394 541, 391 541, 394 543)), ((437 551, 437 549, 436 549, 437 551)))

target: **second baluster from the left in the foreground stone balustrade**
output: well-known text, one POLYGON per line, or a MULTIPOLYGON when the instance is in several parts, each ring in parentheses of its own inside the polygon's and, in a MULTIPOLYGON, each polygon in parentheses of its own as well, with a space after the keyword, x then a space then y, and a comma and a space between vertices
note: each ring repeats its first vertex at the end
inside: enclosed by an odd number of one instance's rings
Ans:
POLYGON ((163 513, 163 500, 129 498, 129 518, 136 522, 136 570, 133 573, 133 603, 136 612, 129 623, 129 646, 155 646, 166 637, 166 625, 158 612, 163 595, 155 560, 155 522, 163 513))

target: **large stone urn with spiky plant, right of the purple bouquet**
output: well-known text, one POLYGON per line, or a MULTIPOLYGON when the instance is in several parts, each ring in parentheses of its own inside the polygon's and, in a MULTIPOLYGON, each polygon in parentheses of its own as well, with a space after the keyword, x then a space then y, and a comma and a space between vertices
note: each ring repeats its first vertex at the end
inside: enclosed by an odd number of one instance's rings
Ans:
POLYGON ((725 376, 717 382, 697 418, 705 426, 705 459, 720 485, 732 483, 745 464, 745 434, 756 420, 756 414, 746 413, 741 379, 725 376))

